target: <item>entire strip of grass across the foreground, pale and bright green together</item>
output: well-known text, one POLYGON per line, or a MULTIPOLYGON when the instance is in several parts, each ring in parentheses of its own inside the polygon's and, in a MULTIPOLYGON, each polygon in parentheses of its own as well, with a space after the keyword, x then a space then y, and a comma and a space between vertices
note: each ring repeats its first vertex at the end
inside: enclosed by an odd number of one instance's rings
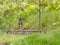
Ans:
POLYGON ((60 45, 59 30, 49 30, 46 34, 14 35, 0 33, 0 44, 8 45, 60 45))

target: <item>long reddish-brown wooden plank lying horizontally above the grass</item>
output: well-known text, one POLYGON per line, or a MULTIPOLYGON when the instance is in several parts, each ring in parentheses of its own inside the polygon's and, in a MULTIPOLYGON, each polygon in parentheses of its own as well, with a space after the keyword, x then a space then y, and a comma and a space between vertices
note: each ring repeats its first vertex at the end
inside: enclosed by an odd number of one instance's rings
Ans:
POLYGON ((4 31, 9 34, 31 34, 31 33, 40 33, 40 30, 7 30, 4 31))

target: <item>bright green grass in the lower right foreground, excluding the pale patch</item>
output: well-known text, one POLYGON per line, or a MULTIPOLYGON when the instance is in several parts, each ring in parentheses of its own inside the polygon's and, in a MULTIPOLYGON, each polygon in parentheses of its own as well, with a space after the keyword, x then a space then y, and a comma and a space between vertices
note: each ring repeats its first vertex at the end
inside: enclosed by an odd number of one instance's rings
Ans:
POLYGON ((32 34, 22 40, 22 45, 60 45, 60 32, 32 34))

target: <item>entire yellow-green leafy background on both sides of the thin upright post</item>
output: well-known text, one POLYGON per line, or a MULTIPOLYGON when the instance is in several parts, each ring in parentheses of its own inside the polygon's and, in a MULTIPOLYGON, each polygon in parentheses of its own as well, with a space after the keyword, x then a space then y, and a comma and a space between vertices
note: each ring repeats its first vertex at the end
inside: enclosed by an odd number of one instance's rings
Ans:
MULTIPOLYGON (((19 18, 25 19, 22 29, 38 29, 38 2, 36 0, 0 0, 0 29, 19 29, 19 18)), ((42 0, 40 2, 42 27, 50 28, 54 23, 59 23, 60 1, 42 0)))

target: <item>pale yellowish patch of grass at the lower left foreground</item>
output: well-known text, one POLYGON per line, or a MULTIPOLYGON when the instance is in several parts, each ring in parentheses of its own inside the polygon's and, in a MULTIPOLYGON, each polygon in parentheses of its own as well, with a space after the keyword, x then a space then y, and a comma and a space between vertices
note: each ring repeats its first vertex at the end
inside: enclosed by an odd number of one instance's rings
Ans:
POLYGON ((23 35, 14 35, 14 34, 0 34, 0 44, 5 44, 8 43, 9 45, 17 45, 18 41, 21 42, 21 40, 24 38, 25 36, 23 35))

